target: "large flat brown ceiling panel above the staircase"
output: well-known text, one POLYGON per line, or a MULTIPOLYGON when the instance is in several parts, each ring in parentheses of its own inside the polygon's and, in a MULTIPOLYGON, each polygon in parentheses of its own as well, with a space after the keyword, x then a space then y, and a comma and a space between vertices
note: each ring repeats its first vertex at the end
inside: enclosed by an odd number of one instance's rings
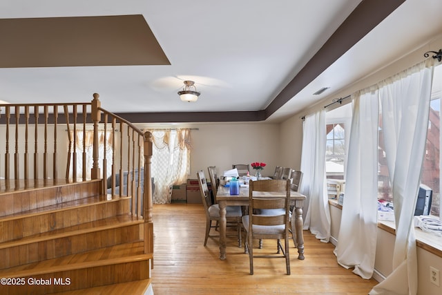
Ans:
POLYGON ((0 68, 170 65, 142 15, 0 19, 0 68))

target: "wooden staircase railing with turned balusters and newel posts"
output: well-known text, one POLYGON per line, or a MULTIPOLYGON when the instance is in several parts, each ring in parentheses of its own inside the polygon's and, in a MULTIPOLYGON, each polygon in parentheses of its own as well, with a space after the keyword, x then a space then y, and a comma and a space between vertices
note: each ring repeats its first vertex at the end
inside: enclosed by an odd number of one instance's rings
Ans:
POLYGON ((77 157, 81 156, 83 168, 80 181, 88 180, 85 138, 81 155, 77 154, 75 146, 79 140, 77 131, 93 126, 93 165, 90 167, 90 179, 102 179, 102 193, 107 193, 109 189, 110 193, 115 194, 115 188, 119 187, 119 196, 132 196, 131 214, 144 219, 144 252, 152 254, 152 135, 149 132, 143 133, 122 117, 102 108, 97 93, 93 97, 90 103, 0 104, 0 141, 4 140, 4 144, 0 145, 0 153, 3 153, 3 157, 0 157, 0 178, 63 178, 60 177, 60 167, 66 159, 64 178, 77 182, 77 157), (103 130, 105 142, 106 134, 112 134, 113 153, 112 159, 106 158, 105 144, 100 169, 99 131, 103 130), (110 172, 106 169, 109 160, 112 161, 110 172), (141 171, 144 178, 141 177, 141 171), (111 188, 106 185, 108 174, 111 188), (117 174, 120 176, 119 183, 116 183, 117 174), (126 175, 126 189, 123 189, 123 175, 126 175), (135 175, 139 176, 136 178, 135 175))

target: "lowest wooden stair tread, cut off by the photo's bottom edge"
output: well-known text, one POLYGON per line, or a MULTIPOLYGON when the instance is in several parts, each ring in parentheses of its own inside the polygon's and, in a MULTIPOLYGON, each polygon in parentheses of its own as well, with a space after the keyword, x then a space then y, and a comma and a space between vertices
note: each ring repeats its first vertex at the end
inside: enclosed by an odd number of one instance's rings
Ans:
POLYGON ((119 283, 113 285, 99 286, 88 289, 55 293, 55 295, 143 295, 146 293, 151 280, 134 280, 133 282, 119 283))

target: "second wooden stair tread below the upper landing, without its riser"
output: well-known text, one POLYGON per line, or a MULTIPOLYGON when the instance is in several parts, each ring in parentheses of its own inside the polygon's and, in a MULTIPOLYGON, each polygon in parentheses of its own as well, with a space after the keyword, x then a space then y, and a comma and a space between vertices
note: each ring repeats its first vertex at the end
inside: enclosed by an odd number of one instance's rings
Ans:
POLYGON ((119 216, 113 216, 111 218, 104 218, 95 220, 92 222, 85 222, 81 225, 75 225, 73 227, 64 227, 62 229, 55 229, 53 231, 46 231, 34 236, 27 236, 19 240, 12 240, 9 242, 3 242, 0 244, 0 249, 15 247, 18 245, 26 245, 32 242, 40 242, 43 240, 53 240, 56 238, 64 238, 67 236, 74 236, 79 234, 87 234, 94 231, 102 231, 105 229, 115 229, 118 227, 124 227, 126 225, 142 224, 144 220, 141 217, 132 216, 131 214, 123 214, 119 216))

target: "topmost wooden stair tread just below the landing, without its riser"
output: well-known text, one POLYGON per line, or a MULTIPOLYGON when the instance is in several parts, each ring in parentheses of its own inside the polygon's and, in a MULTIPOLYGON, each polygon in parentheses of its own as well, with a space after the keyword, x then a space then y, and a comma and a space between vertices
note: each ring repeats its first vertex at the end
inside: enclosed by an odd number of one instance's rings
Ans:
POLYGON ((32 210, 28 210, 28 211, 21 211, 19 213, 1 216, 0 222, 1 221, 8 221, 8 220, 15 220, 15 219, 23 218, 23 217, 38 216, 41 214, 53 213, 53 212, 57 212, 57 211, 69 210, 73 207, 75 207, 75 209, 78 209, 79 207, 86 207, 86 206, 91 206, 91 205, 100 204, 100 203, 104 203, 104 202, 117 202, 119 200, 124 200, 127 198, 131 198, 131 197, 111 196, 110 194, 91 196, 88 198, 81 198, 78 200, 72 200, 72 201, 68 201, 68 202, 60 202, 58 204, 53 204, 53 205, 46 206, 46 207, 39 207, 37 209, 32 209, 32 210))

